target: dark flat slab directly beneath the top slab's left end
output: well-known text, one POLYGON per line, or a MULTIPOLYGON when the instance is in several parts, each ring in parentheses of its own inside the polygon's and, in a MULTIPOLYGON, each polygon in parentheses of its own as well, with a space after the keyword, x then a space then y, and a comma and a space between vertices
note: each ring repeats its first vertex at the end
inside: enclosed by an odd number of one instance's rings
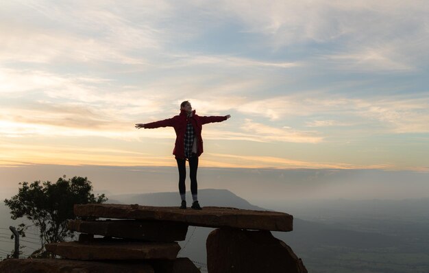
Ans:
POLYGON ((178 222, 114 220, 114 221, 82 221, 69 220, 69 230, 79 233, 103 235, 125 239, 141 239, 147 241, 184 241, 188 225, 178 222))

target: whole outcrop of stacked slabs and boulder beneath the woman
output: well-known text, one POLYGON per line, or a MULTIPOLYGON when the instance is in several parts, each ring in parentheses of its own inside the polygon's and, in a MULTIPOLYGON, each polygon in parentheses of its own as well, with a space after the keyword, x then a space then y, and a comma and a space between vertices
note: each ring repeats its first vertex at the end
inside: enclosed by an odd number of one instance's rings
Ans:
POLYGON ((32 265, 40 270, 31 272, 199 272, 189 259, 177 258, 177 241, 185 239, 188 226, 218 228, 206 244, 210 273, 306 272, 291 248, 269 231, 293 229, 293 216, 286 213, 137 204, 75 205, 74 211, 82 219, 68 227, 82 233, 79 241, 46 245, 65 259, 8 260, 0 262, 0 272, 30 272, 25 270, 32 265))

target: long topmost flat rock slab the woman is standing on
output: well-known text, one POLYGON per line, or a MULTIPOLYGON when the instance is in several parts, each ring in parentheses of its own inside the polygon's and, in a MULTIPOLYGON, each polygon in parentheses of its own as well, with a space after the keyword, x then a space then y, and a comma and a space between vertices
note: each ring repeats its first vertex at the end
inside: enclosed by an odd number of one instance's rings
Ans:
POLYGON ((126 204, 75 204, 80 217, 144 219, 181 222, 189 226, 210 228, 244 228, 255 230, 291 231, 293 216, 275 211, 205 206, 201 211, 171 206, 138 206, 126 204))

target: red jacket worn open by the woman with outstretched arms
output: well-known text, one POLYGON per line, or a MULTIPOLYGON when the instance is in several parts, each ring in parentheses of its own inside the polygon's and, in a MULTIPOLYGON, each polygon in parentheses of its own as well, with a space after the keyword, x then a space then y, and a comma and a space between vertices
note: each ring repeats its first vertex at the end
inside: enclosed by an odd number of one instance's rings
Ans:
POLYGON ((154 129, 154 128, 167 127, 167 126, 173 127, 176 134, 173 154, 175 155, 176 158, 184 159, 185 158, 184 137, 185 137, 186 124, 188 123, 188 119, 191 121, 192 126, 195 130, 195 136, 197 137, 197 141, 198 141, 197 156, 200 156, 204 151, 203 139, 201 137, 201 130, 203 130, 203 124, 225 121, 226 117, 221 117, 221 116, 199 117, 199 115, 195 115, 195 110, 192 111, 192 116, 188 117, 188 115, 186 114, 186 111, 181 110, 180 115, 174 116, 171 119, 164 119, 162 121, 145 123, 145 128, 154 129))

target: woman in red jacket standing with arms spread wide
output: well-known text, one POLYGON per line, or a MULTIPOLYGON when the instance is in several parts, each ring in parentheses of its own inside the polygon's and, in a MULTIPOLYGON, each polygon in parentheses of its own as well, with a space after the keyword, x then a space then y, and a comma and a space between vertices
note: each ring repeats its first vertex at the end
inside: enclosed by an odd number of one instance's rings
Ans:
POLYGON ((162 121, 136 124, 137 129, 153 129, 167 126, 174 128, 176 139, 173 154, 175 155, 177 168, 179 169, 179 193, 180 198, 182 198, 180 209, 186 209, 186 161, 189 162, 189 170, 191 171, 191 193, 193 199, 191 208, 201 209, 197 195, 197 169, 198 157, 203 153, 202 125, 210 122, 225 121, 230 117, 230 115, 226 115, 225 117, 199 117, 199 115, 195 114, 195 110, 192 110, 191 104, 188 101, 184 101, 180 104, 180 115, 162 121))

